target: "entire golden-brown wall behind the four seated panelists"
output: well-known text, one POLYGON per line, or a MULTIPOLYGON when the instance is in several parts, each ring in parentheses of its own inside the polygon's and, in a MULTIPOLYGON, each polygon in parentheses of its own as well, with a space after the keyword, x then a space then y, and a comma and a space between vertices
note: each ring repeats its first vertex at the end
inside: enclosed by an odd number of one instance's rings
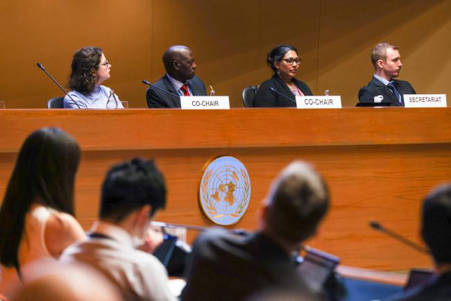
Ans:
POLYGON ((130 107, 144 107, 140 80, 160 78, 162 52, 186 44, 198 76, 241 107, 241 90, 271 76, 266 53, 289 43, 303 58, 298 78, 354 105, 371 79, 369 53, 385 41, 400 46, 400 78, 418 93, 451 97, 450 14, 451 0, 1 1, 0 101, 45 107, 61 92, 36 62, 65 84, 74 51, 95 45, 112 62, 105 85, 130 107))

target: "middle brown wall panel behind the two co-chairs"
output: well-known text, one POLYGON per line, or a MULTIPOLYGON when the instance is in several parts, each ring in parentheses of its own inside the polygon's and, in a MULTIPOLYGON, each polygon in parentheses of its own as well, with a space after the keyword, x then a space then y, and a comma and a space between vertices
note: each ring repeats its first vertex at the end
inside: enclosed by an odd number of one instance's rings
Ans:
MULTIPOLYGON (((155 1, 153 79, 164 74, 161 55, 171 44, 187 44, 197 74, 216 95, 242 106, 241 92, 272 76, 266 53, 275 45, 296 45, 303 65, 299 76, 316 89, 319 6, 315 1, 155 1), (287 17, 291 15, 291 17, 287 17), (168 16, 171 22, 167 22, 168 16)), ((210 91, 210 89, 208 89, 210 91)))

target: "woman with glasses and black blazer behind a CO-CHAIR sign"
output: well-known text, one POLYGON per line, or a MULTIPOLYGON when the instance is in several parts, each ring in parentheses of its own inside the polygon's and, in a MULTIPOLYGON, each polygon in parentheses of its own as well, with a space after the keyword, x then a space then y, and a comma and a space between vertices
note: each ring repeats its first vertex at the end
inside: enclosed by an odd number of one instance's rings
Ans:
POLYGON ((296 96, 313 95, 309 86, 296 78, 301 59, 294 46, 275 46, 266 56, 266 62, 274 74, 257 89, 254 107, 296 107, 296 96))

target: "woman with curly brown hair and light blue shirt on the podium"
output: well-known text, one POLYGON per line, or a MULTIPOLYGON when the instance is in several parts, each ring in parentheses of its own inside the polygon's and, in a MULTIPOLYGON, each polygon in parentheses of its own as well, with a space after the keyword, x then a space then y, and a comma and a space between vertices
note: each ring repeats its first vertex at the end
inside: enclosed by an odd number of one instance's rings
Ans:
POLYGON ((111 64, 98 47, 83 47, 74 53, 64 107, 72 109, 124 108, 119 97, 109 87, 101 85, 110 78, 111 64))

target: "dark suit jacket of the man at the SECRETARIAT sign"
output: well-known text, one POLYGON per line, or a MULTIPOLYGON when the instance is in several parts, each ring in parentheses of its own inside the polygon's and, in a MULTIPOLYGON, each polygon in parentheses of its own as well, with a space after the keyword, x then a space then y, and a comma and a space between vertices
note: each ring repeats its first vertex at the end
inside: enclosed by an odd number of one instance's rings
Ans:
MULTIPOLYGON (((398 89, 398 92, 400 92, 402 99, 404 99, 404 94, 416 94, 409 82, 395 79, 393 79, 393 82, 395 82, 395 87, 398 89)), ((395 94, 391 92, 391 89, 373 76, 371 82, 365 87, 361 87, 359 90, 359 102, 374 103, 374 98, 377 96, 382 96, 382 102, 391 103, 390 106, 402 106, 395 94)))

